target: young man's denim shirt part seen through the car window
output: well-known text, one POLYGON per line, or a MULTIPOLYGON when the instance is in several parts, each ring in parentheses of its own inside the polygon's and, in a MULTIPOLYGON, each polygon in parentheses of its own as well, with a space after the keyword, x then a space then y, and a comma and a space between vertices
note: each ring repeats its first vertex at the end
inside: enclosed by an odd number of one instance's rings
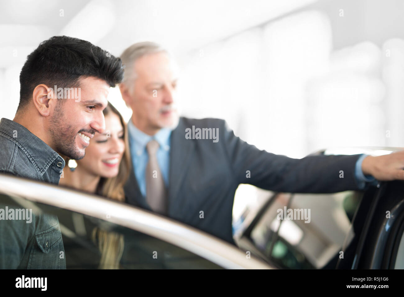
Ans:
POLYGON ((0 268, 65 269, 65 251, 56 215, 0 193, 0 268))

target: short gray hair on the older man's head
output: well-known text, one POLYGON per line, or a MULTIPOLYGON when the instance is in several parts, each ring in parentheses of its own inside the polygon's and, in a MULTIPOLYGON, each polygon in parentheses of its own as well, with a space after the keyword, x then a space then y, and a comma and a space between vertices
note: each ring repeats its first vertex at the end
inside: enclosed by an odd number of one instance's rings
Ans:
POLYGON ((156 52, 168 53, 160 44, 150 41, 137 42, 126 48, 120 56, 122 64, 125 66, 123 82, 131 84, 129 81, 136 79, 134 64, 137 59, 146 54, 154 54, 156 52))

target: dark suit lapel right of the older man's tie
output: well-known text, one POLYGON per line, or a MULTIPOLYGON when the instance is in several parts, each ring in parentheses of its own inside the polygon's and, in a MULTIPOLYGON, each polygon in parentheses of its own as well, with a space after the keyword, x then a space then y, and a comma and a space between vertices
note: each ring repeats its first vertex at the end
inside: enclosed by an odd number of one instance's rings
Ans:
POLYGON ((171 134, 170 144, 170 179, 168 188, 168 214, 171 216, 178 205, 181 205, 181 197, 178 192, 191 163, 194 141, 185 139, 185 125, 180 118, 177 128, 171 134))

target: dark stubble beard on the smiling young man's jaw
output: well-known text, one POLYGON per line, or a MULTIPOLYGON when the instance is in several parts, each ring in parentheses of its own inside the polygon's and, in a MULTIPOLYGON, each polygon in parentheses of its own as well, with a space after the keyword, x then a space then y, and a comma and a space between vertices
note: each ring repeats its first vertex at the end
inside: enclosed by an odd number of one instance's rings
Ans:
MULTIPOLYGON (((62 105, 62 103, 58 103, 62 105)), ((76 145, 77 133, 72 125, 66 124, 63 119, 62 107, 58 106, 50 120, 50 135, 52 136, 55 150, 59 155, 65 155, 70 159, 80 160, 85 153, 78 150, 76 145)))

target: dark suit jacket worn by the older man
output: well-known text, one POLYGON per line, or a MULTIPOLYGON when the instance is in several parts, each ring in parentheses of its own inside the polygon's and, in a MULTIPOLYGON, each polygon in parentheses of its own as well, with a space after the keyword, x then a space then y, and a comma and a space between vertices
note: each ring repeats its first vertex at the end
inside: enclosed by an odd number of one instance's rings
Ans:
MULTIPOLYGON (((355 164, 359 157, 321 155, 293 159, 275 155, 244 142, 221 119, 181 117, 171 134, 168 216, 234 244, 232 209, 239 184, 280 192, 357 190, 355 164), (219 128, 219 141, 186 139, 185 129, 192 130, 192 126, 219 128), (340 170, 343 178, 339 178, 340 170), (200 218, 200 211, 204 218, 200 218)), ((150 210, 133 170, 125 195, 127 203, 150 210)))

